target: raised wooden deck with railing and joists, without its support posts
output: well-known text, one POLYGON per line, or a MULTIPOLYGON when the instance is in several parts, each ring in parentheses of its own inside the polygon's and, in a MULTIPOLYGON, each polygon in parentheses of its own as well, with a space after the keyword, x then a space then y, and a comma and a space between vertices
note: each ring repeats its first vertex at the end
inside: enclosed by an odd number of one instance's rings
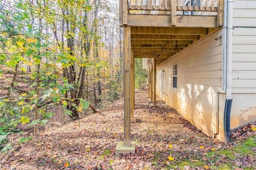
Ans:
POLYGON ((223 26, 223 0, 120 0, 120 26, 131 27, 134 58, 157 64, 223 26))

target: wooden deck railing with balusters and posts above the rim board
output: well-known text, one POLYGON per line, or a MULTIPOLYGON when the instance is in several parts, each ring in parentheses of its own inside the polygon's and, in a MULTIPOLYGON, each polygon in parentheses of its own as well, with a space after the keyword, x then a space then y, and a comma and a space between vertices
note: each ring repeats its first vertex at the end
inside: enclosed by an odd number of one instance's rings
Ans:
MULTIPOLYGON (((223 23, 223 0, 120 0, 123 25, 127 15, 171 15, 172 26, 177 16, 216 16, 223 23)), ((120 17, 121 17, 120 15, 120 17)))

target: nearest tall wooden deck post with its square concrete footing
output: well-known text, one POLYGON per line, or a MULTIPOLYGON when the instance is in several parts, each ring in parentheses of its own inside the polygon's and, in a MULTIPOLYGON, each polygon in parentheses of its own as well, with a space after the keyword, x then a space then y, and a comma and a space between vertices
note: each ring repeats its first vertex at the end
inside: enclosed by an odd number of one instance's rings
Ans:
POLYGON ((116 155, 134 153, 131 142, 131 27, 124 27, 124 142, 118 142, 116 155))

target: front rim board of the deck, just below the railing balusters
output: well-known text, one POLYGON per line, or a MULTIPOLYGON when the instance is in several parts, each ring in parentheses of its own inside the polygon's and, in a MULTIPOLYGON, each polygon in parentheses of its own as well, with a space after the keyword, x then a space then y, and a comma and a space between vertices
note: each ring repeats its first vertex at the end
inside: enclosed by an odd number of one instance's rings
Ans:
MULTIPOLYGON (((128 15, 129 26, 171 27, 171 15, 128 15)), ((177 15, 176 27, 217 28, 217 16, 177 15)))

